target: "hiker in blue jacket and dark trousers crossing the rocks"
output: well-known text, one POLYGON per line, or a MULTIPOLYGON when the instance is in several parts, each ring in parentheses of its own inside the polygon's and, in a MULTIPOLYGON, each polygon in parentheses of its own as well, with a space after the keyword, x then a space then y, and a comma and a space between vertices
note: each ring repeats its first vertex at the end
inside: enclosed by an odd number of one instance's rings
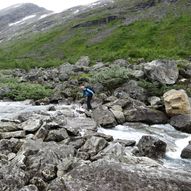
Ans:
POLYGON ((91 86, 84 86, 84 85, 80 86, 80 89, 83 90, 83 96, 87 97, 87 99, 86 99, 87 110, 88 111, 92 110, 91 100, 95 93, 94 89, 91 86))

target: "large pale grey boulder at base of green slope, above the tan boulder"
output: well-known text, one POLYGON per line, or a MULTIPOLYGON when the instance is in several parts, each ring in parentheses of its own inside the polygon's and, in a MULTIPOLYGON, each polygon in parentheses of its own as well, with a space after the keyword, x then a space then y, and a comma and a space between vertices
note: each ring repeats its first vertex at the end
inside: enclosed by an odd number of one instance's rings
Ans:
POLYGON ((154 60, 144 64, 144 72, 148 78, 162 84, 174 84, 179 75, 177 64, 174 61, 154 60))

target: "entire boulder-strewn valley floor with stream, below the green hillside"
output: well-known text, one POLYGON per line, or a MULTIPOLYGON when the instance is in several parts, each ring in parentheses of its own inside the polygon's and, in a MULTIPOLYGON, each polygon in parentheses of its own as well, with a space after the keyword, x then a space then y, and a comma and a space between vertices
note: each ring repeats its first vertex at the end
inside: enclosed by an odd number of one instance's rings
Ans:
POLYGON ((82 57, 9 71, 18 86, 0 88, 0 190, 191 190, 190 68, 123 59, 92 66, 82 57), (52 94, 5 102, 28 95, 19 96, 25 82, 52 94), (83 109, 81 83, 95 89, 92 113, 83 109))

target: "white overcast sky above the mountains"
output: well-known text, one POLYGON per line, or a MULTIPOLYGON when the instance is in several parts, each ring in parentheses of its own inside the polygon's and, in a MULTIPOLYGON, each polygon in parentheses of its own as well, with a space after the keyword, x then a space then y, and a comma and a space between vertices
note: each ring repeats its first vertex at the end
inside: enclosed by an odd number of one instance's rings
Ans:
POLYGON ((0 0, 0 9, 18 3, 34 3, 48 10, 60 12, 77 5, 85 5, 97 0, 0 0))

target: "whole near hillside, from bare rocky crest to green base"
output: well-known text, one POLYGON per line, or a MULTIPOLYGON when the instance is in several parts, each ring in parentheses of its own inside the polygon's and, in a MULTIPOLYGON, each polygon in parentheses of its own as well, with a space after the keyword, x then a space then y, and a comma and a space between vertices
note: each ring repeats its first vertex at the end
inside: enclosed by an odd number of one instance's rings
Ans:
POLYGON ((48 67, 81 55, 93 61, 188 59, 190 22, 189 0, 115 0, 76 7, 32 23, 25 35, 1 43, 0 67, 48 67))

